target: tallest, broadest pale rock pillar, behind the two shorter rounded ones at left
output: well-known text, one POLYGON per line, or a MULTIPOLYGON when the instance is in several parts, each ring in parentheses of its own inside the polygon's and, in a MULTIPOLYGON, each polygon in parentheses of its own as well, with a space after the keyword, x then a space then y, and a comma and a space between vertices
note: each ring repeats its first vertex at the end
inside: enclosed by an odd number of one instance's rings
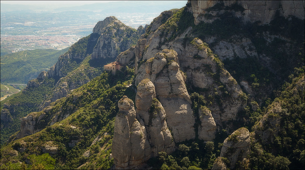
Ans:
POLYGON ((177 53, 164 49, 143 63, 135 80, 138 84, 148 78, 154 84, 165 113, 167 126, 176 142, 195 138, 191 100, 185 87, 185 75, 177 63, 177 53))

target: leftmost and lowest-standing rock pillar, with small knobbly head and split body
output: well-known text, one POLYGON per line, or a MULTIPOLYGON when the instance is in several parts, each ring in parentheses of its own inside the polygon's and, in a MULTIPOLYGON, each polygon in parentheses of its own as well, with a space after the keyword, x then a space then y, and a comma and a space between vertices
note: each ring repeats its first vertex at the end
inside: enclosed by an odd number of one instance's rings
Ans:
POLYGON ((133 101, 126 96, 118 102, 118 107, 112 143, 114 164, 118 169, 136 168, 151 154, 144 122, 136 117, 133 101))

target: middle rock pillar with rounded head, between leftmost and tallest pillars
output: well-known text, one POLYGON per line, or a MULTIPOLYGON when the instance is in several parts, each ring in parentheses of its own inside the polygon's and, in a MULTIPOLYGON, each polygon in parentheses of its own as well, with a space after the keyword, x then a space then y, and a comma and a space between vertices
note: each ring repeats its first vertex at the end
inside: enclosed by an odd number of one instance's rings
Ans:
POLYGON ((166 114, 161 103, 155 98, 155 86, 149 79, 142 80, 138 85, 136 94, 136 112, 142 118, 152 146, 152 156, 159 152, 170 154, 174 151, 174 141, 167 123, 166 114))

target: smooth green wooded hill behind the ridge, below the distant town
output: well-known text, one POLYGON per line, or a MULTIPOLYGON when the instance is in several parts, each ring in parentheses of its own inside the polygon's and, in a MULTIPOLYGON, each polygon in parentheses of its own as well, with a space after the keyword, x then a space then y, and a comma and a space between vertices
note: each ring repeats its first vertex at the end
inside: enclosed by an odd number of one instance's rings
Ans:
POLYGON ((67 51, 68 48, 36 49, 1 55, 1 83, 27 84, 41 71, 48 71, 56 63, 58 56, 67 51))

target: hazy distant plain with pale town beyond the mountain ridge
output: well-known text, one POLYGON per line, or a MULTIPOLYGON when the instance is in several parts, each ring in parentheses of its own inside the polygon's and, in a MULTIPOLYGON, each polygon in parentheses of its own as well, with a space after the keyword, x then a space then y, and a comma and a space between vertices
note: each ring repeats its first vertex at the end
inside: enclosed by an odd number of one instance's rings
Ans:
MULTIPOLYGON (((136 15, 118 14, 123 23, 137 29, 142 25, 150 24, 157 13, 136 15), (145 23, 145 24, 143 24, 145 23)), ((9 16, 5 16, 8 18, 9 16)), ((5 19, 4 16, 2 18, 5 19)), ((106 16, 99 17, 103 20, 106 16)), ((1 22, 2 22, 1 18, 1 22)), ((21 18, 20 18, 21 19, 21 18)), ((33 19, 35 20, 35 19, 33 19)), ((96 19, 95 19, 96 20, 96 19)), ((88 36, 96 23, 94 22, 3 22, 1 23, 1 52, 2 54, 15 53, 32 49, 63 49, 73 45, 84 36, 88 36)))

